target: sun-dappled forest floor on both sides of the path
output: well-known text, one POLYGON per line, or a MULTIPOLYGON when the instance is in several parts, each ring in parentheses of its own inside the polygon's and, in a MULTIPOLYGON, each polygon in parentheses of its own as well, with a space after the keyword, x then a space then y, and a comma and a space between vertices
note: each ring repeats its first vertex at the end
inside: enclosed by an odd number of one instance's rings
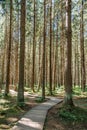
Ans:
MULTIPOLYGON (((83 95, 81 92, 78 93, 78 91, 78 89, 75 89, 74 104, 82 108, 82 112, 86 110, 83 114, 84 117, 87 117, 87 93, 83 95)), ((56 97, 63 98, 63 90, 59 89, 58 92, 56 97)), ((41 103, 41 98, 38 98, 35 94, 33 95, 33 93, 25 93, 25 105, 22 108, 17 106, 16 100, 17 93, 14 91, 11 91, 11 95, 6 99, 3 97, 3 94, 0 95, 0 130, 9 130, 27 111, 41 103)), ((84 121, 83 117, 81 117, 81 121, 78 121, 77 117, 74 117, 74 115, 70 115, 69 117, 67 116, 68 113, 66 113, 65 116, 67 117, 64 119, 61 118, 58 113, 60 113, 62 105, 62 103, 57 104, 49 110, 44 130, 87 130, 87 119, 84 121), (67 118, 74 118, 75 120, 67 118)), ((81 111, 77 110, 75 114, 77 115, 77 113, 80 113, 79 115, 81 116, 81 111)))

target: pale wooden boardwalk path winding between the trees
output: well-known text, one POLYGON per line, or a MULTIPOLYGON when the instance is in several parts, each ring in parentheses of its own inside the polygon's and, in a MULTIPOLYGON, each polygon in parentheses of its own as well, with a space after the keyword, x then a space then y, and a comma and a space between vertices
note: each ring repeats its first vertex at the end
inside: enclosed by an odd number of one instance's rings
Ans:
POLYGON ((43 130, 48 110, 61 101, 62 99, 50 97, 47 102, 29 110, 11 130, 43 130))

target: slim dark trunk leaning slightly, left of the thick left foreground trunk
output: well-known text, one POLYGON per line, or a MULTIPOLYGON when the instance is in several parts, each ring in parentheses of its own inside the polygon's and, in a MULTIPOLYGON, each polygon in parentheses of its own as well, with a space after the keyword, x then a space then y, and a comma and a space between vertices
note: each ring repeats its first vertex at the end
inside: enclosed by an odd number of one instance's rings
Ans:
POLYGON ((10 84, 10 61, 11 61, 11 43, 12 43, 12 8, 13 2, 10 0, 10 30, 9 30, 9 43, 7 50, 7 72, 6 72, 6 89, 5 95, 9 93, 9 84, 10 84))

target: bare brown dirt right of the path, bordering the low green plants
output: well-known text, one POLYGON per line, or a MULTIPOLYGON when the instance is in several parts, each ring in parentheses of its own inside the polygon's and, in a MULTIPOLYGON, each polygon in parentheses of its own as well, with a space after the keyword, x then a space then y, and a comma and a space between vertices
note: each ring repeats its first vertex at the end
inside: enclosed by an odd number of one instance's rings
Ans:
MULTIPOLYGON (((84 99, 76 99, 76 104, 85 103, 84 99)), ((86 106, 86 105, 83 105, 86 106)), ((87 130, 87 122, 64 122, 58 116, 57 113, 59 109, 62 107, 62 103, 57 104, 53 108, 51 108, 47 114, 47 119, 45 122, 44 130, 87 130)), ((87 109, 87 106, 85 107, 87 109)), ((87 116, 87 115, 86 115, 87 116)))

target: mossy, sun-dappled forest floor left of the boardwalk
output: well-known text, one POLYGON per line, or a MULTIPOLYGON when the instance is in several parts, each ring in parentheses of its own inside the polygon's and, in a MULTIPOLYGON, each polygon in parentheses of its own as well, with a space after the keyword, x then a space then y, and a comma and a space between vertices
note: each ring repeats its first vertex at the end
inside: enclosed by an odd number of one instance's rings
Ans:
POLYGON ((40 104, 37 95, 25 93, 25 105, 20 108, 16 104, 17 93, 11 90, 10 96, 0 95, 0 130, 9 130, 30 109, 40 104))

